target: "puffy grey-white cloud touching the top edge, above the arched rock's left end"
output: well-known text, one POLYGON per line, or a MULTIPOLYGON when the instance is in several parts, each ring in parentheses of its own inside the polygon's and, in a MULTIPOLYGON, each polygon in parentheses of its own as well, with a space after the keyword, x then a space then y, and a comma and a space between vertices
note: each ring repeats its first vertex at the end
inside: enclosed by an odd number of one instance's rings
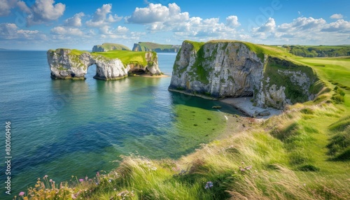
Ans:
MULTIPOLYGON (((54 5, 54 3, 54 0, 36 0, 27 17, 27 25, 42 24, 61 17, 66 10, 66 5, 63 3, 54 5)), ((22 4, 22 9, 29 11, 24 4, 22 4)))

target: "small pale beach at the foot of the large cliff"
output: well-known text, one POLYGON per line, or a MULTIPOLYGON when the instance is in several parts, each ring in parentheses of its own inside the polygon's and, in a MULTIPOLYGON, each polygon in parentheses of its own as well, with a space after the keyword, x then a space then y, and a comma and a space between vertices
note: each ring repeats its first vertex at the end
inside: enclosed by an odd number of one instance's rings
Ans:
POLYGON ((283 110, 278 110, 276 108, 260 108, 257 106, 253 106, 253 102, 251 102, 252 97, 239 97, 239 98, 227 98, 222 99, 220 101, 224 103, 228 103, 235 108, 241 110, 246 115, 253 117, 255 113, 261 113, 262 111, 268 110, 270 115, 267 116, 256 116, 256 118, 263 118, 267 119, 269 117, 272 117, 273 115, 279 115, 282 113, 283 110))

